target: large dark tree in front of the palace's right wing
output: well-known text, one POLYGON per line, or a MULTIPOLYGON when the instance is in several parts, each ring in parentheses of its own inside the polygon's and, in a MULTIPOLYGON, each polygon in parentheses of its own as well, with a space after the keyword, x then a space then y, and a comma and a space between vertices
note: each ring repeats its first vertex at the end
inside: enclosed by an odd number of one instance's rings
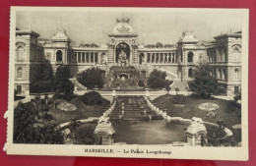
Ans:
POLYGON ((191 83, 191 90, 204 98, 223 92, 217 79, 211 76, 211 71, 207 64, 200 64, 195 70, 195 79, 191 83))

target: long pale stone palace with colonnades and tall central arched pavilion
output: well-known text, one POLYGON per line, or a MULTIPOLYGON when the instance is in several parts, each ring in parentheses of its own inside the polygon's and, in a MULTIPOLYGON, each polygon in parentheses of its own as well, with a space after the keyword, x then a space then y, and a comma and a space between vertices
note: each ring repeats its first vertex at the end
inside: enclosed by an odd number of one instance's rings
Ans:
POLYGON ((139 33, 129 19, 116 19, 108 42, 72 46, 64 29, 51 39, 40 39, 32 30, 16 29, 15 88, 18 95, 30 94, 30 83, 36 80, 45 60, 55 71, 68 65, 71 75, 92 66, 135 66, 165 71, 168 79, 192 81, 195 67, 209 63, 212 75, 234 95, 241 88, 241 31, 215 36, 213 41, 200 41, 191 31, 182 33, 176 44, 145 45, 137 43, 139 33))

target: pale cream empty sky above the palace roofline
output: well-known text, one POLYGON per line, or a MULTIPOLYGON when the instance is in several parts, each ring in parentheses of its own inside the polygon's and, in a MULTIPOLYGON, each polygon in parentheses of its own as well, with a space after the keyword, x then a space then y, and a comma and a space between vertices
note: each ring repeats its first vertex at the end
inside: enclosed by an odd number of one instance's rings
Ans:
POLYGON ((172 10, 172 9, 129 9, 129 8, 81 8, 80 10, 17 11, 16 26, 32 29, 42 38, 51 38, 57 28, 64 28, 72 43, 108 42, 108 33, 116 25, 116 18, 129 18, 139 34, 137 43, 174 44, 182 31, 193 31, 198 40, 213 40, 213 37, 227 31, 242 29, 242 15, 232 10, 172 10))

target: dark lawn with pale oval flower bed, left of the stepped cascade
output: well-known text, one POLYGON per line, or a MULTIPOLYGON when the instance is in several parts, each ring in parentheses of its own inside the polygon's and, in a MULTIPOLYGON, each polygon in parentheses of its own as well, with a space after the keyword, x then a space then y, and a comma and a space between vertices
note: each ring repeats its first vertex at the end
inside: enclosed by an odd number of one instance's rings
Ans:
MULTIPOLYGON (((59 100, 58 102, 66 101, 59 100)), ((76 111, 63 111, 59 108, 54 108, 53 103, 49 105, 49 112, 53 119, 57 124, 69 122, 72 119, 86 119, 88 117, 99 117, 103 114, 104 110, 107 106, 109 106, 110 102, 104 98, 102 98, 102 104, 96 106, 89 106, 84 104, 82 100, 82 96, 76 96, 71 101, 67 101, 68 103, 74 104, 77 106, 76 111)))

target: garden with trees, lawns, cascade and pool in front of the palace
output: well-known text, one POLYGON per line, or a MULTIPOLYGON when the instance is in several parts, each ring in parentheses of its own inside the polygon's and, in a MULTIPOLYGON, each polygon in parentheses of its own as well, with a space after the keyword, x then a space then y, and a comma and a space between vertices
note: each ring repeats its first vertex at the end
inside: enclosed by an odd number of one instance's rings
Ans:
POLYGON ((45 69, 43 80, 32 83, 35 94, 29 100, 15 98, 14 142, 104 144, 96 131, 110 123, 104 132, 111 144, 182 144, 188 143, 196 117, 208 140, 202 137, 200 145, 237 146, 241 95, 222 98, 223 88, 209 71, 207 64, 198 66, 194 81, 181 88, 157 69, 148 79, 132 66, 112 67, 107 77, 98 67, 72 78, 67 66, 59 66, 55 74, 45 69), (230 141, 222 141, 221 126, 232 131, 230 141))

